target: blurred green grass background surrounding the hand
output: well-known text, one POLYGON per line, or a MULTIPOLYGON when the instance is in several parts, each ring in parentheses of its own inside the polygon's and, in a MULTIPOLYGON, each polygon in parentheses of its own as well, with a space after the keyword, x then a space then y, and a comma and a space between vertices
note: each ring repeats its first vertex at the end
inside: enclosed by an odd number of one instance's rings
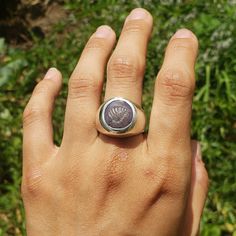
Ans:
POLYGON ((0 39, 0 235, 25 235, 20 198, 22 111, 47 68, 55 66, 64 86, 54 114, 59 144, 67 82, 81 50, 96 27, 110 25, 119 35, 134 7, 154 17, 147 54, 143 105, 149 115, 155 75, 168 39, 181 27, 199 38, 192 137, 202 145, 210 189, 201 235, 236 236, 236 2, 235 1, 79 1, 65 0, 68 17, 46 38, 33 37, 29 49, 8 46, 0 39))

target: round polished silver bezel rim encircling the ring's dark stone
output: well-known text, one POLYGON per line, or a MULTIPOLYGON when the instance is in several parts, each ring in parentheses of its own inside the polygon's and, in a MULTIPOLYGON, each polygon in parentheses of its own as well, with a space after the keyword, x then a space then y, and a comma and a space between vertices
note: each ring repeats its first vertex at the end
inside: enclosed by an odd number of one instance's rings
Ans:
POLYGON ((107 130, 108 132, 112 132, 112 133, 126 133, 128 132, 129 130, 131 130, 134 126, 135 126, 135 123, 137 121, 137 108, 136 106, 129 100, 127 99, 124 99, 124 98, 121 98, 121 97, 114 97, 108 101, 106 101, 102 106, 101 106, 101 109, 100 109, 100 112, 99 112, 99 120, 100 120, 100 123, 102 125, 102 127, 107 130), (132 110, 132 121, 130 122, 130 124, 128 124, 127 126, 123 127, 123 128, 113 128, 111 126, 109 126, 106 121, 105 121, 105 110, 107 108, 107 106, 114 102, 114 101, 123 101, 123 102, 126 102, 130 107, 131 107, 131 110, 132 110))

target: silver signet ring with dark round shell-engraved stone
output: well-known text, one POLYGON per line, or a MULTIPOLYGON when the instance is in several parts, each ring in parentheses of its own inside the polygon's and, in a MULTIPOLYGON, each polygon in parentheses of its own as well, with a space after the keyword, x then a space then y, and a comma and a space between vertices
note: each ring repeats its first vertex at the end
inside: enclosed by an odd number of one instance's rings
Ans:
POLYGON ((129 137, 144 132, 145 114, 143 109, 121 97, 104 102, 96 117, 97 130, 113 137, 129 137))

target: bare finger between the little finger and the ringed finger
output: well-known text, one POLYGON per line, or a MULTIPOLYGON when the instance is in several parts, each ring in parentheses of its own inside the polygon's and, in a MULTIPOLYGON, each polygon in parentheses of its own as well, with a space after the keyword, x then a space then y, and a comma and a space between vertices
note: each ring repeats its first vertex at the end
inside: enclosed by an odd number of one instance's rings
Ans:
POLYGON ((100 105, 104 70, 115 33, 100 26, 90 37, 69 81, 63 139, 89 144, 97 136, 95 116, 100 105))

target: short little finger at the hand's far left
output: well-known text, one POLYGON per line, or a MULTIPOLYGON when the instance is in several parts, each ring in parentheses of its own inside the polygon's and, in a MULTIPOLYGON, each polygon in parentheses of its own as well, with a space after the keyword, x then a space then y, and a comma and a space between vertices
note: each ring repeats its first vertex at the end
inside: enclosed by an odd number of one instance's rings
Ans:
POLYGON ((51 68, 35 87, 23 114, 24 162, 42 162, 54 151, 52 112, 62 84, 61 73, 51 68))

